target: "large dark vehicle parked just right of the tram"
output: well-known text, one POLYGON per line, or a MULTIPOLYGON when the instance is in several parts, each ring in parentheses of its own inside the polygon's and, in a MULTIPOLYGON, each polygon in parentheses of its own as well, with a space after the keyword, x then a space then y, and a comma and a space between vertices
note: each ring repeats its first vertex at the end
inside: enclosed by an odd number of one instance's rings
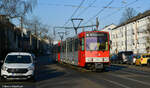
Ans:
POLYGON ((129 56, 133 55, 133 51, 121 51, 118 53, 117 63, 127 63, 129 56))

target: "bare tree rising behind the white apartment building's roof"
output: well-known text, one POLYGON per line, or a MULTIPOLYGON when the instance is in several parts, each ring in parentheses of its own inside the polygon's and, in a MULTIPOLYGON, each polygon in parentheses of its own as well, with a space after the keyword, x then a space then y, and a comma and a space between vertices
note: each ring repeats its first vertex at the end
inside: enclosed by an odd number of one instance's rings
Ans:
POLYGON ((137 12, 133 8, 126 8, 120 19, 120 24, 126 22, 127 20, 133 18, 137 15, 137 12))

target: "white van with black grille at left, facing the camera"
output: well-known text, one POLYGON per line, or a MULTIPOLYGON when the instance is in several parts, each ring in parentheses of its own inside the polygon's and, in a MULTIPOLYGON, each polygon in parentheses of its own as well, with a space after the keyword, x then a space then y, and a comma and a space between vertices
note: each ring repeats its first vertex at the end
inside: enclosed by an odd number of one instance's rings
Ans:
POLYGON ((1 68, 1 79, 34 80, 34 69, 33 58, 30 53, 8 53, 1 68))

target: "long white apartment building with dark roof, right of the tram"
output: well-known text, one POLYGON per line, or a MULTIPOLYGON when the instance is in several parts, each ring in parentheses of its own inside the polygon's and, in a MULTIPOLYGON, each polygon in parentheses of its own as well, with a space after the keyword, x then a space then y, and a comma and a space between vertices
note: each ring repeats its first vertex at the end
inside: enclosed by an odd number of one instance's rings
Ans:
POLYGON ((150 11, 139 14, 112 29, 112 53, 150 51, 150 11))

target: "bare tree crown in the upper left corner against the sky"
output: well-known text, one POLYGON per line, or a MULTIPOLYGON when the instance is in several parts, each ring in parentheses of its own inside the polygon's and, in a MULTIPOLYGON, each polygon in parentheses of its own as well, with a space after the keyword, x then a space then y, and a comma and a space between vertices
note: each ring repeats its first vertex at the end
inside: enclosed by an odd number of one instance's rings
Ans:
POLYGON ((9 18, 24 17, 32 12, 37 0, 0 0, 0 14, 9 18))

